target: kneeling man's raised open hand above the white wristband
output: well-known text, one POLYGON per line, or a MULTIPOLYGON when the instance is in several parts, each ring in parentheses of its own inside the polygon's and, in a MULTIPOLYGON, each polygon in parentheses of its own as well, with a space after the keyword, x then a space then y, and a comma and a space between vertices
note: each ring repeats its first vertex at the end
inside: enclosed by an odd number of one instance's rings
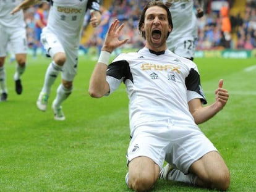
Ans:
POLYGON ((114 20, 113 23, 111 23, 108 33, 106 34, 105 42, 103 44, 103 51, 112 52, 114 49, 118 48, 119 46, 122 46, 125 44, 129 39, 126 40, 119 40, 119 35, 122 31, 122 28, 124 28, 124 23, 119 25, 119 20, 114 20))

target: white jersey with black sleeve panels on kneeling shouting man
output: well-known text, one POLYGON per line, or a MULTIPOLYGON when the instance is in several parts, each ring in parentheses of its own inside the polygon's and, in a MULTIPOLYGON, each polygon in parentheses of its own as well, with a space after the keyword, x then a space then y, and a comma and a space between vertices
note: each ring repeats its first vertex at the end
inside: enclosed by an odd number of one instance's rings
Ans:
POLYGON ((200 98, 206 103, 197 66, 168 49, 120 54, 108 67, 107 81, 110 93, 122 81, 126 85, 131 135, 136 125, 155 120, 194 123, 188 102, 200 98))

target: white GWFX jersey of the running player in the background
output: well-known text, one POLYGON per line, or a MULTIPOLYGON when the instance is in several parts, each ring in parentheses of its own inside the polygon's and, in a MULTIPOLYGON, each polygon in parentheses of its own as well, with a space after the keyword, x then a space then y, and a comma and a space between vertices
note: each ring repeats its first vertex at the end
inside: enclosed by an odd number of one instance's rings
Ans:
POLYGON ((78 48, 83 19, 87 9, 100 10, 98 1, 53 0, 48 15, 48 23, 43 31, 54 33, 62 43, 78 48))

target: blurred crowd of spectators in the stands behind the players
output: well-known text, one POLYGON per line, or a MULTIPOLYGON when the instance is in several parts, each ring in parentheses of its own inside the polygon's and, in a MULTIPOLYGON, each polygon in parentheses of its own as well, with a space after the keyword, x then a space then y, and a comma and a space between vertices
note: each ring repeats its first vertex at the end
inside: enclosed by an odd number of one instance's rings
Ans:
MULTIPOLYGON (((109 23, 114 19, 125 23, 122 31, 122 38, 129 38, 125 48, 141 48, 143 39, 137 30, 139 15, 147 0, 113 0, 108 7, 102 7, 103 21, 101 25, 93 31, 91 38, 81 44, 81 49, 85 52, 89 47, 101 48, 109 23)), ((237 15, 230 15, 229 10, 233 8, 234 0, 218 1, 223 6, 213 7, 214 0, 196 1, 195 9, 201 6, 204 9, 204 16, 198 19, 198 50, 208 49, 254 49, 256 48, 256 0, 247 0, 242 12, 237 15), (218 7, 218 8, 216 8, 218 7), (229 26, 230 23, 230 26, 229 26)), ((216 1, 217 2, 217 1, 216 1)), ((27 36, 30 48, 35 49, 35 15, 40 9, 38 6, 25 10, 25 22, 27 23, 27 36)), ((48 9, 43 10, 47 19, 48 9)), ((85 17, 83 34, 86 34, 90 13, 85 17)), ((175 27, 175 26, 174 26, 175 27)))

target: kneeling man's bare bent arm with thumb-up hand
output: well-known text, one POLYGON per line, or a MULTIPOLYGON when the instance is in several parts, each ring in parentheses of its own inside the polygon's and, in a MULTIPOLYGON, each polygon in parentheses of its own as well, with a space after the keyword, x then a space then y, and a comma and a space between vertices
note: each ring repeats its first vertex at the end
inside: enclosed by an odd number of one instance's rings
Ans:
POLYGON ((195 119, 195 123, 200 124, 211 119, 215 114, 223 109, 228 102, 229 93, 223 88, 223 80, 219 81, 218 88, 215 90, 215 102, 210 106, 202 106, 200 99, 189 101, 189 111, 195 119))

